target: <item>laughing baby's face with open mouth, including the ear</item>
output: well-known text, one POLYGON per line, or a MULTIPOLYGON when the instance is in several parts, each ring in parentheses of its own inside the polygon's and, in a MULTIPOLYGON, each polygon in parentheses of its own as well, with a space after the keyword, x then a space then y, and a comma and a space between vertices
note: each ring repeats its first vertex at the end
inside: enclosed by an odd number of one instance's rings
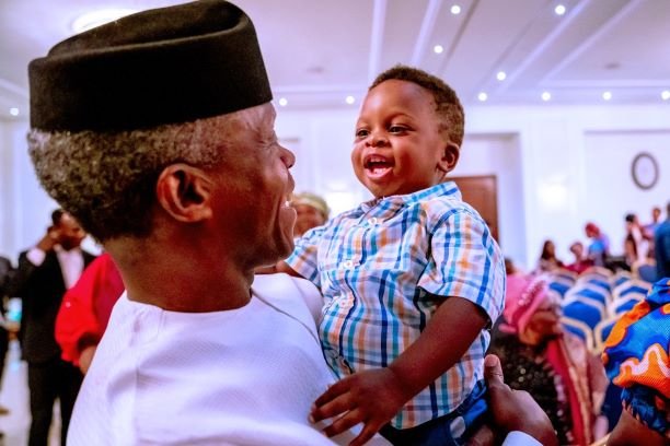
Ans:
POLYGON ((363 101, 351 164, 374 197, 412 193, 442 181, 458 160, 453 148, 440 132, 430 92, 389 80, 363 101))

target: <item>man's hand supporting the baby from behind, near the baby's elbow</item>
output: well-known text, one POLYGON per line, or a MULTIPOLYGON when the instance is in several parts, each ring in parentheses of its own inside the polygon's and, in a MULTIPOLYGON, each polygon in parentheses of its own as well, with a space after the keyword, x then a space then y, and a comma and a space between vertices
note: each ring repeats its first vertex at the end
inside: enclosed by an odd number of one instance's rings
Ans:
POLYGON ((501 431, 499 434, 503 437, 511 431, 520 431, 544 446, 558 445, 552 422, 533 397, 523 390, 512 390, 505 384, 498 356, 486 356, 484 377, 490 395, 494 429, 501 431))

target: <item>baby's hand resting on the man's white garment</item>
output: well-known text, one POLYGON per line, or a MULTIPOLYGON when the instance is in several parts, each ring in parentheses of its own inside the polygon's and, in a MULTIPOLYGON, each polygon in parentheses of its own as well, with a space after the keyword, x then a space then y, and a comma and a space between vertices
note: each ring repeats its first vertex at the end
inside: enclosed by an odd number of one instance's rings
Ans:
POLYGON ((330 437, 362 422, 363 429, 350 446, 363 445, 413 397, 407 394, 389 368, 356 373, 335 383, 314 401, 310 421, 335 419, 324 429, 330 437))

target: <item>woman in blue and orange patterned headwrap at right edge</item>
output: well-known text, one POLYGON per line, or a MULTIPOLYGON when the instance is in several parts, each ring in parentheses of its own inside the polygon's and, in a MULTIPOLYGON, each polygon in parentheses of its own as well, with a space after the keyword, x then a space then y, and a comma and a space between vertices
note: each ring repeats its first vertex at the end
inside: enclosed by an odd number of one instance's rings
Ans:
POLYGON ((624 411, 608 445, 670 444, 670 279, 626 313, 605 341, 608 377, 624 411))

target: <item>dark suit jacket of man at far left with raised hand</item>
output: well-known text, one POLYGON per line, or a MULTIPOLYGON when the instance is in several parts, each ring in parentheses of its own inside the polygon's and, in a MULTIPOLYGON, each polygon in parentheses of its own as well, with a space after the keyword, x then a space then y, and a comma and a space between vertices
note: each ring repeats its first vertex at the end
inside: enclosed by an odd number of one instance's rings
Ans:
MULTIPOLYGON (((66 285, 55 251, 47 253, 39 267, 31 263, 26 254, 23 251, 19 256, 19 268, 11 281, 10 293, 23 301, 23 359, 28 363, 43 363, 60 356, 54 328, 66 285)), ((85 268, 95 256, 86 251, 82 254, 85 268)))

